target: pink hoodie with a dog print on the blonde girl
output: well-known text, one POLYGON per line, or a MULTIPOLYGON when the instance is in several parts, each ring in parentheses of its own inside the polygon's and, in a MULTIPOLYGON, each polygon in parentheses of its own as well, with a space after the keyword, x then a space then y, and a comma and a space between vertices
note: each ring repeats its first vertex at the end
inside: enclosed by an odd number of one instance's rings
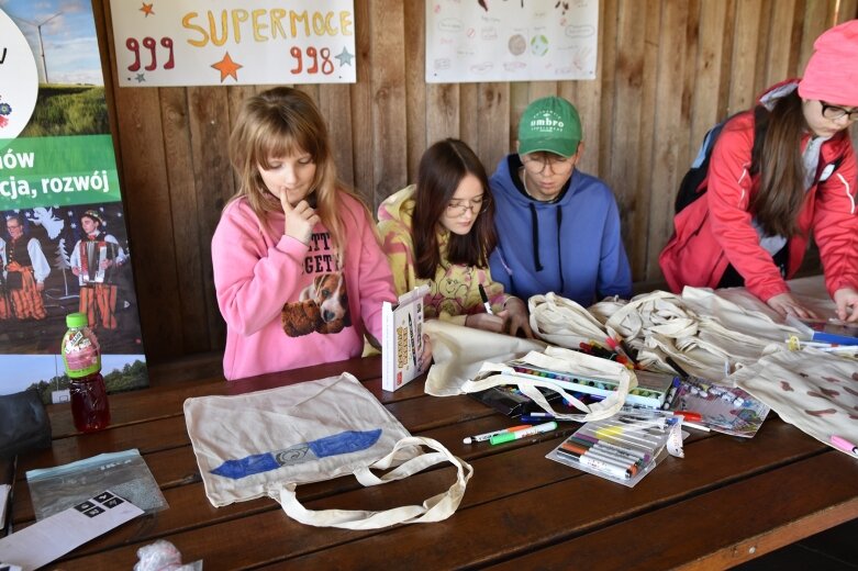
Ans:
MULTIPOLYGON (((390 267, 364 206, 345 193, 339 200, 348 236, 342 268, 321 224, 304 245, 261 231, 244 198, 224 210, 212 262, 226 379, 357 357, 365 331, 381 339, 381 303, 397 299, 390 267)), ((270 215, 270 227, 283 224, 282 212, 270 215)))

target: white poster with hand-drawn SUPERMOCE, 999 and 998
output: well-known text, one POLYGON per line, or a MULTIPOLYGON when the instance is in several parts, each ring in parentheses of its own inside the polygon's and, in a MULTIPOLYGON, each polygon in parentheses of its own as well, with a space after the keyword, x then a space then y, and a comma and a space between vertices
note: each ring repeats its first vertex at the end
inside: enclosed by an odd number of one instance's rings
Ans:
POLYGON ((122 87, 354 83, 352 0, 111 0, 122 87))

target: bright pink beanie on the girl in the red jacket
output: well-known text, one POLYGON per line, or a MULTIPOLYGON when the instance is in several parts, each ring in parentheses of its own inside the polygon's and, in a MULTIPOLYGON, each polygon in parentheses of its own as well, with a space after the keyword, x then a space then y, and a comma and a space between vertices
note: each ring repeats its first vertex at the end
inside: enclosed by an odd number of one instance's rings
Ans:
POLYGON ((799 82, 802 99, 858 107, 858 20, 825 31, 813 49, 799 82))

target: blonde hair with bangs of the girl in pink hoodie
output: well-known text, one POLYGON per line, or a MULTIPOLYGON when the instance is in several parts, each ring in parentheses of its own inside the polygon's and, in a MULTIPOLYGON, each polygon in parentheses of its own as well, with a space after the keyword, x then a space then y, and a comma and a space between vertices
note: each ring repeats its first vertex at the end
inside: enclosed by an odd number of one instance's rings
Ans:
POLYGON ((345 192, 360 199, 337 179, 327 143, 327 127, 307 93, 277 87, 244 101, 230 136, 230 159, 238 175, 239 188, 229 203, 245 197, 260 224, 277 233, 269 225, 269 213, 281 212, 282 205, 278 197, 268 192, 259 167, 269 169, 271 158, 304 153, 316 166, 310 190, 316 195, 316 214, 331 233, 342 261, 347 240, 336 209, 337 193, 345 192))

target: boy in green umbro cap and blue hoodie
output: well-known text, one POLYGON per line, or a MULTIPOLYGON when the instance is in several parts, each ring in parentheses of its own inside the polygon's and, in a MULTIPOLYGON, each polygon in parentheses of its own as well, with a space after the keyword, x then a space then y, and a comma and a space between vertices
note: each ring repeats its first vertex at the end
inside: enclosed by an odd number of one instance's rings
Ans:
POLYGON ((576 169, 582 139, 571 103, 538 99, 519 123, 517 153, 503 158, 489 181, 499 237, 491 275, 521 299, 553 291, 586 307, 632 294, 613 192, 576 169))

